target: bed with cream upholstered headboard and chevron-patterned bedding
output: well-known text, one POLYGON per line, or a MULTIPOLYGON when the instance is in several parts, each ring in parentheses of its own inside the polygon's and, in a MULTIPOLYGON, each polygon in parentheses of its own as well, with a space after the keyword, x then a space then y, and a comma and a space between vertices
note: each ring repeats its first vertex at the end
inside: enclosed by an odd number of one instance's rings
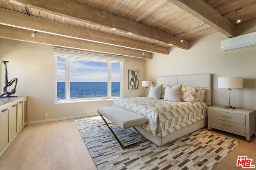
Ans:
POLYGON ((207 107, 211 106, 212 99, 211 74, 159 77, 157 86, 161 85, 163 88, 160 99, 122 98, 115 100, 112 106, 148 117, 149 123, 136 126, 136 129, 158 146, 207 126, 207 107), (172 102, 163 99, 165 88, 170 89, 170 86, 178 87, 181 84, 182 90, 192 87, 197 89, 197 94, 204 92, 203 101, 172 102))

